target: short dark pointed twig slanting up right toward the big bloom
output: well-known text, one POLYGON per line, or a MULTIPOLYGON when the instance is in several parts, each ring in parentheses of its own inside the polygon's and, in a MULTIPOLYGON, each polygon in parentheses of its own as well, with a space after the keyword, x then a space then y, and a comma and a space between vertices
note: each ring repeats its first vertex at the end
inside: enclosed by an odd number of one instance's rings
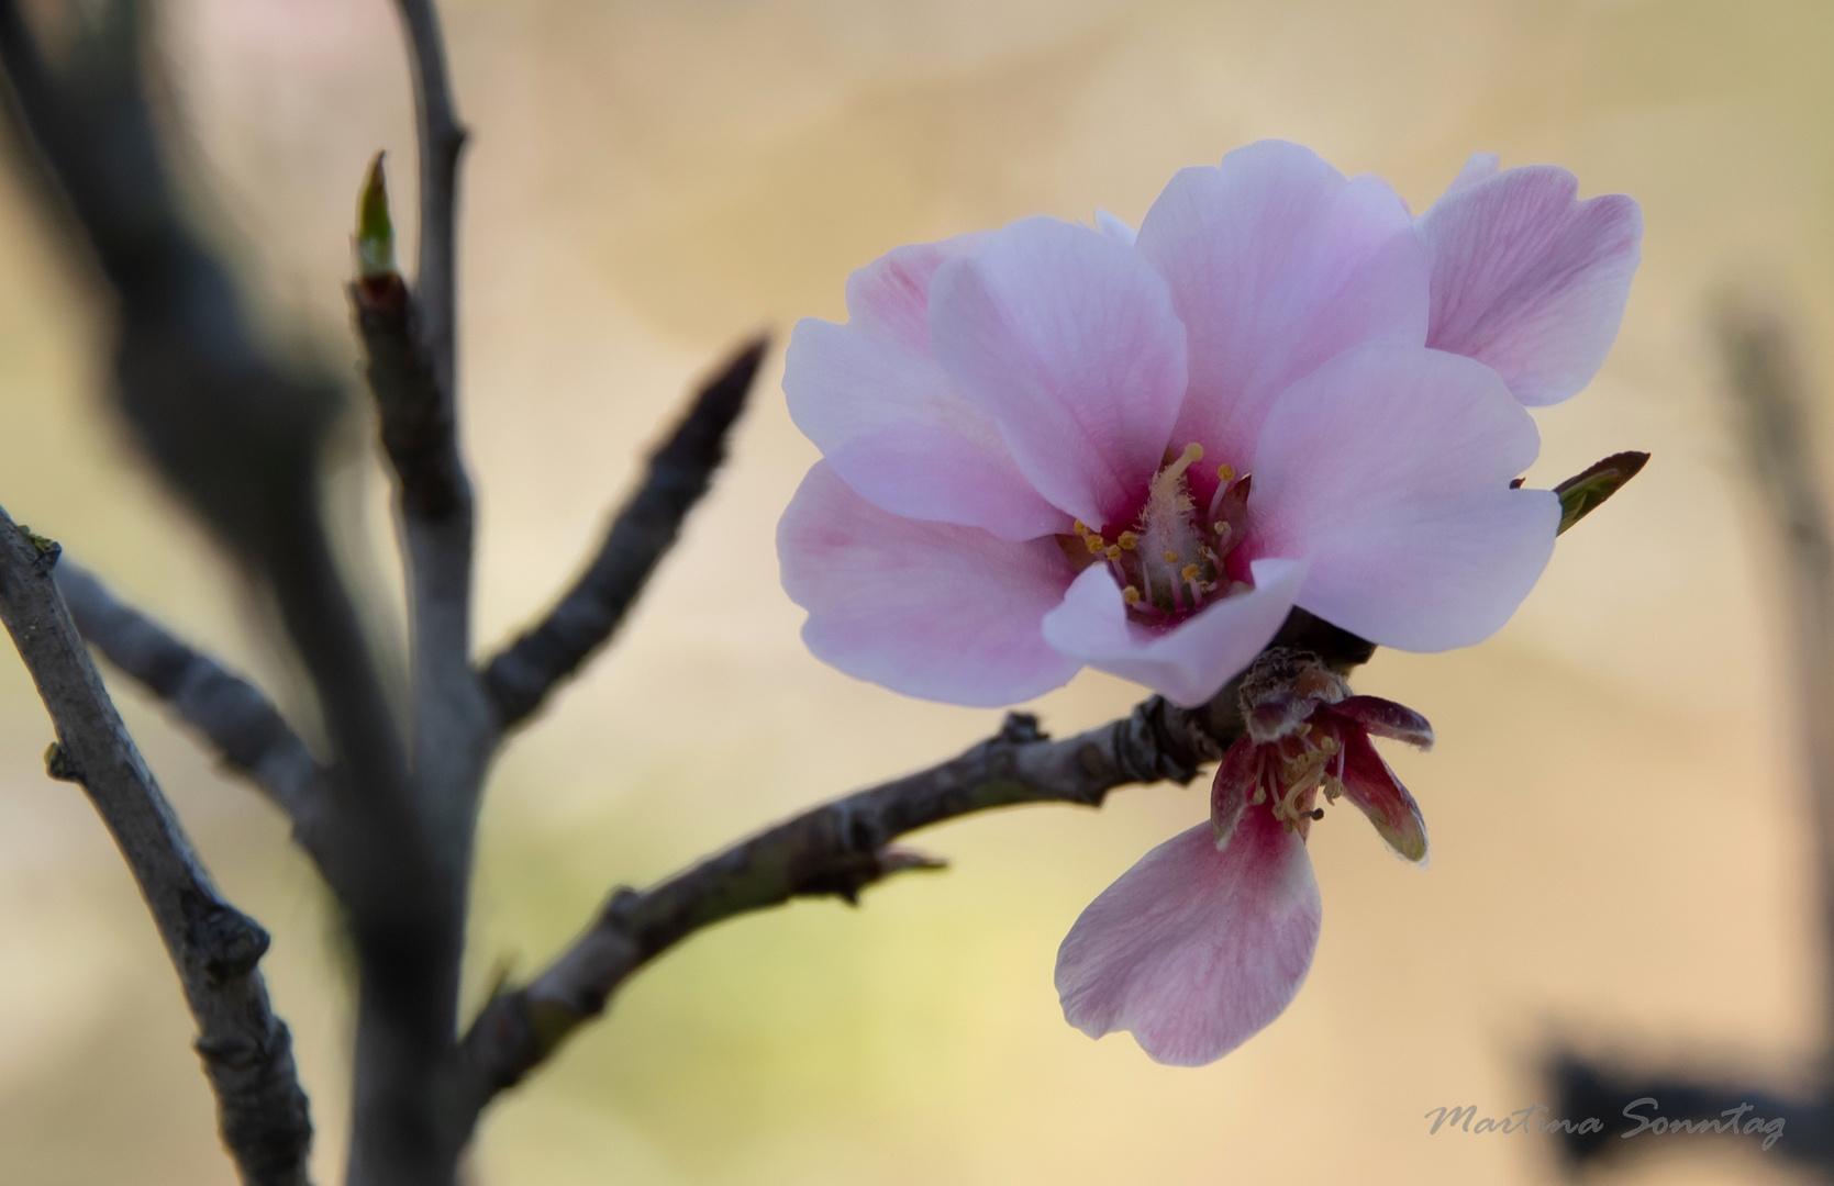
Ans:
POLYGON ((752 341, 699 390, 669 438, 649 455, 642 486, 613 519, 592 565, 539 625, 490 660, 484 687, 499 730, 526 720, 618 629, 726 460, 726 434, 745 411, 768 346, 767 337, 752 341))

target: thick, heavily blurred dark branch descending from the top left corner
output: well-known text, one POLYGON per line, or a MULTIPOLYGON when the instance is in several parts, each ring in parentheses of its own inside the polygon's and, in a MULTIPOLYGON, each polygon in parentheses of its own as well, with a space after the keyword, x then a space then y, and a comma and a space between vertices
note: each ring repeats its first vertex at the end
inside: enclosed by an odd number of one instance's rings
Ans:
MULTIPOLYGON (((62 203, 117 299, 123 411, 167 480, 270 585, 317 691, 334 763, 314 856, 347 911, 361 966, 354 1177, 365 1186, 447 1186, 457 1146, 429 1102, 457 1027, 470 825, 457 836, 436 827, 427 797, 409 783, 321 519, 321 447, 339 390, 266 357, 227 269, 176 200, 141 77, 147 11, 105 4, 99 33, 53 71, 18 0, 0 0, 7 114, 20 145, 37 150, 28 159, 40 165, 53 207, 62 203)), ((451 570, 416 565, 416 579, 451 570)), ((420 623, 462 627, 466 605, 420 623)), ((462 647, 447 665, 464 675, 462 647)), ((475 698, 488 722, 482 693, 475 698)))

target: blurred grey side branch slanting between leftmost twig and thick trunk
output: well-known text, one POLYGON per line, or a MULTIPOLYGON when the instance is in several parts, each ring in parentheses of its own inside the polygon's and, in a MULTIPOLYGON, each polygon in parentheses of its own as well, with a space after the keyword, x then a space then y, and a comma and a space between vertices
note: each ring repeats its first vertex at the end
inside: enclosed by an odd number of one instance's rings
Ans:
POLYGON ((68 557, 55 576, 84 642, 165 700, 290 818, 308 814, 308 801, 323 794, 325 770, 259 687, 117 599, 68 557))

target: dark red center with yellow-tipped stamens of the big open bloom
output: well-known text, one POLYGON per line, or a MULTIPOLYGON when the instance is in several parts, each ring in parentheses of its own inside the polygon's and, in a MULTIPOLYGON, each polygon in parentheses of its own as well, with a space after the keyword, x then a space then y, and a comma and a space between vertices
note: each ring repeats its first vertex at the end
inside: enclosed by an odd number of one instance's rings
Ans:
POLYGON ((1227 563, 1247 526, 1249 475, 1218 466, 1216 493, 1199 513, 1188 473, 1199 460, 1196 442, 1176 456, 1168 451, 1132 522, 1099 532, 1077 522, 1075 535, 1056 537, 1078 572, 1108 565, 1141 625, 1170 625, 1214 598, 1253 588, 1227 563))

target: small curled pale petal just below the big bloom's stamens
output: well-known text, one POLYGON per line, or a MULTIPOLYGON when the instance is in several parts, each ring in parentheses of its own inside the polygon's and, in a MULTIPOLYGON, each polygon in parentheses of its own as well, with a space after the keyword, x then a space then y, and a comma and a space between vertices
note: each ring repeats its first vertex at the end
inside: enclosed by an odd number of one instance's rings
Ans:
POLYGON ((1148 631, 1128 620, 1121 587, 1099 565, 1084 568, 1045 614, 1044 636, 1064 654, 1196 708, 1221 691, 1273 640, 1306 579, 1302 561, 1258 559, 1254 588, 1212 601, 1170 631, 1148 631))

